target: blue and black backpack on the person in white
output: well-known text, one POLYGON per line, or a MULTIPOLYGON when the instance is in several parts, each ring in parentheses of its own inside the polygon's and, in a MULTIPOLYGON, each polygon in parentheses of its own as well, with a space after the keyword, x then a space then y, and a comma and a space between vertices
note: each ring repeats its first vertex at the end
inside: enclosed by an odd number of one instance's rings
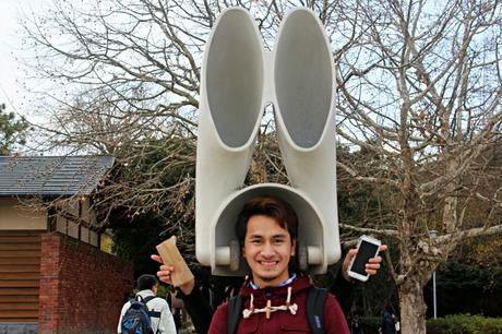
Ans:
POLYGON ((125 311, 120 322, 122 334, 154 334, 152 329, 151 317, 160 318, 160 312, 150 311, 146 303, 155 296, 142 298, 140 295, 135 299, 131 299, 131 306, 125 311))

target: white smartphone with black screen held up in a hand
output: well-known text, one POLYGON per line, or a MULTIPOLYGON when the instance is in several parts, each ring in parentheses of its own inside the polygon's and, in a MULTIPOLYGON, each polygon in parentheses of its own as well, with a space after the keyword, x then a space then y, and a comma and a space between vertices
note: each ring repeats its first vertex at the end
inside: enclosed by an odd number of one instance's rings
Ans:
POLYGON ((359 237, 357 254, 350 261, 347 274, 359 281, 368 281, 370 275, 366 272, 366 264, 368 260, 376 257, 380 244, 382 244, 380 240, 370 236, 362 235, 359 237))

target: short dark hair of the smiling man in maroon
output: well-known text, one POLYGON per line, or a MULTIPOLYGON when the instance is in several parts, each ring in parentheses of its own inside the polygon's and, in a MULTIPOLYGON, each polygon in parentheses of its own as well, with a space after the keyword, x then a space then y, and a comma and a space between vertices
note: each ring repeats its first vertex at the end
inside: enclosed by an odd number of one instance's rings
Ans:
POLYGON ((274 218, 282 228, 288 230, 291 241, 298 238, 298 217, 288 203, 273 196, 254 198, 244 204, 236 224, 236 235, 240 244, 244 244, 248 220, 255 215, 274 218))

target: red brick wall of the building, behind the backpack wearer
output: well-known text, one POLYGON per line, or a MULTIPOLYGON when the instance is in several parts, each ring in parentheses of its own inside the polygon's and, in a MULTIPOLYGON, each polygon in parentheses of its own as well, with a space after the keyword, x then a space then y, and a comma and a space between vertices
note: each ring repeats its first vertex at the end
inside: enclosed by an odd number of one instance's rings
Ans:
POLYGON ((132 264, 79 240, 41 236, 39 334, 111 334, 127 295, 132 264))

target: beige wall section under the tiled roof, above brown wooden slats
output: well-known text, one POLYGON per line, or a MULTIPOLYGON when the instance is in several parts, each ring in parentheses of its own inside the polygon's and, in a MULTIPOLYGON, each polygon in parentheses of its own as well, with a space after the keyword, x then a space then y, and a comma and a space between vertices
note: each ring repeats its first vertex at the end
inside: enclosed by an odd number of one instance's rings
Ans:
POLYGON ((47 229, 45 211, 28 211, 16 198, 0 198, 0 230, 47 229))

